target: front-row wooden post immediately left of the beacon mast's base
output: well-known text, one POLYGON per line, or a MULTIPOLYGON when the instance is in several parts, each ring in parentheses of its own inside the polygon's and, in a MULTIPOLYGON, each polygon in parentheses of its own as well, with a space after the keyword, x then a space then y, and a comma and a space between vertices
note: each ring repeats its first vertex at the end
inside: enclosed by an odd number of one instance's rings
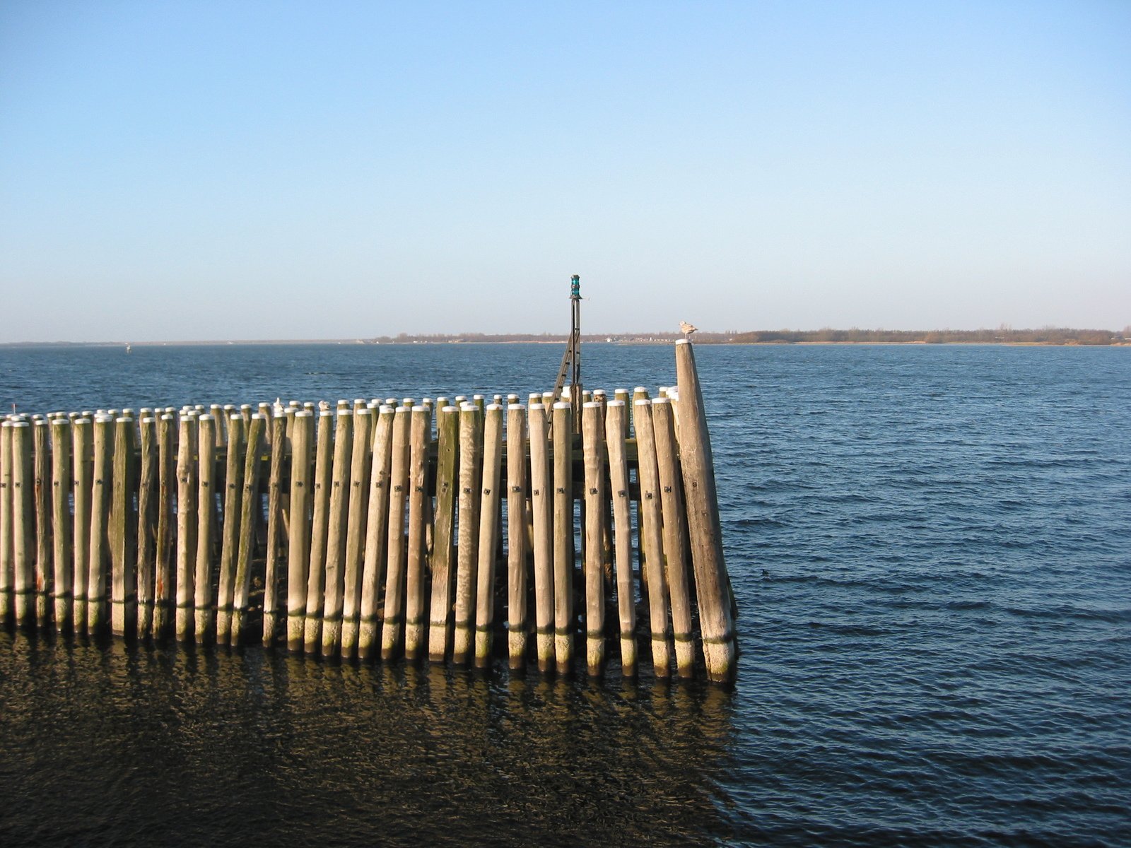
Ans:
MULTIPOLYGON (((554 654, 558 668, 573 663, 573 406, 553 407, 554 440, 554 654)), ((580 422, 578 422, 580 424, 580 422)))

